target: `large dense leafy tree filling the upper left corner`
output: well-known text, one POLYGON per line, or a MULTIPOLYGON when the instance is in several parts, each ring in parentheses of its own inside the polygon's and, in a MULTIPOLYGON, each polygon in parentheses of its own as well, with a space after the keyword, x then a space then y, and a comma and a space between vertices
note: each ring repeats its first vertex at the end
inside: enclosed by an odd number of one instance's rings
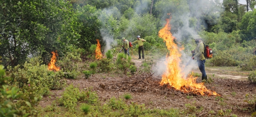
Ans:
POLYGON ((0 54, 5 65, 22 64, 29 54, 61 54, 79 38, 71 6, 63 0, 1 0, 0 54))

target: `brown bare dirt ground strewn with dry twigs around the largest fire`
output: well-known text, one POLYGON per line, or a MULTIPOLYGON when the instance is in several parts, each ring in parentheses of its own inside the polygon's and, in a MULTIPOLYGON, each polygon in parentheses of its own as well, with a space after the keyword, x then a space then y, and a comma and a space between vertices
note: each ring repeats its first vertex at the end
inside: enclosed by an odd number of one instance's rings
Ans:
MULTIPOLYGON (((133 60, 133 62, 139 67, 142 60, 133 60)), ((200 73, 199 70, 194 70, 194 72, 200 73)), ((211 110, 218 112, 228 109, 231 109, 231 113, 238 117, 250 117, 254 110, 253 105, 249 105, 244 100, 246 94, 250 94, 247 100, 254 98, 256 85, 248 83, 245 80, 245 75, 222 74, 220 70, 211 68, 207 68, 206 72, 214 82, 205 84, 205 86, 207 89, 216 91, 221 95, 220 97, 182 93, 169 88, 167 85, 160 86, 161 77, 152 76, 151 74, 135 74, 127 77, 104 73, 96 74, 90 79, 68 80, 68 84, 74 84, 80 89, 91 87, 92 91, 96 91, 101 101, 107 101, 113 96, 122 98, 124 94, 129 93, 132 95, 129 102, 145 104, 148 108, 187 109, 185 104, 191 104, 197 108, 203 107, 203 111, 197 114, 198 117, 208 117, 208 112, 211 110), (104 84, 105 88, 101 88, 100 84, 104 84)), ((198 78, 197 82, 201 82, 201 78, 198 78)), ((56 97, 61 95, 62 91, 52 91, 52 98, 44 97, 40 105, 42 107, 50 105, 56 97)))

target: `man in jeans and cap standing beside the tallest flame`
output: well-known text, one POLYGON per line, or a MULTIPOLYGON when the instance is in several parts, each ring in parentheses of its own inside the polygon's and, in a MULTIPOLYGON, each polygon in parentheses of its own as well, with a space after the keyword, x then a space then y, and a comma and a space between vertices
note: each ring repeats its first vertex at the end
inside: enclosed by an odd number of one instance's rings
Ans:
POLYGON ((205 57, 204 57, 204 45, 203 41, 200 35, 196 35, 194 37, 196 48, 192 51, 195 53, 195 55, 192 57, 192 59, 196 59, 197 65, 199 67, 199 70, 202 72, 202 80, 207 80, 207 75, 205 72, 205 57))

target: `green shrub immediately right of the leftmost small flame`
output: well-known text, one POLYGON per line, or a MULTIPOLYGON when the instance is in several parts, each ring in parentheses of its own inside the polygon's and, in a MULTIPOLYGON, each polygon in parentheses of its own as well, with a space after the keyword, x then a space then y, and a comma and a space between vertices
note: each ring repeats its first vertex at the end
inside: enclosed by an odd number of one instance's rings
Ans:
POLYGON ((67 52, 66 55, 57 62, 57 66, 59 66, 63 72, 66 72, 64 76, 67 79, 76 79, 80 74, 79 62, 82 62, 79 53, 67 52))

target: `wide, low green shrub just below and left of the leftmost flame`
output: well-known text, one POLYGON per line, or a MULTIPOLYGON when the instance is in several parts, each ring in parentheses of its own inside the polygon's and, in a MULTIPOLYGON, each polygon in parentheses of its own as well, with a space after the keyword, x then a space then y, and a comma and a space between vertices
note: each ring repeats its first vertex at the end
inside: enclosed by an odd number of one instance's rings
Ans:
POLYGON ((23 68, 20 68, 20 65, 14 68, 8 67, 7 73, 11 77, 10 83, 19 88, 28 85, 29 82, 34 83, 38 95, 48 95, 50 89, 62 89, 66 84, 66 80, 62 78, 63 72, 49 71, 48 66, 41 65, 42 63, 40 57, 36 57, 25 62, 23 68))

